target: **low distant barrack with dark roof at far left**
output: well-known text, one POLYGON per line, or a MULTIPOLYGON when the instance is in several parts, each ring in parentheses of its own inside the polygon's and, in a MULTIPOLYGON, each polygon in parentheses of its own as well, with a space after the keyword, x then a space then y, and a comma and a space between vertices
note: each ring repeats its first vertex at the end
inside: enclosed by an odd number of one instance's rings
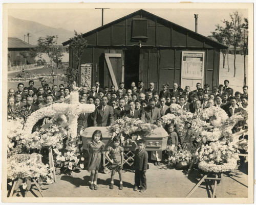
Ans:
POLYGON ((30 56, 29 50, 35 47, 18 38, 8 38, 8 66, 34 64, 35 58, 30 56))

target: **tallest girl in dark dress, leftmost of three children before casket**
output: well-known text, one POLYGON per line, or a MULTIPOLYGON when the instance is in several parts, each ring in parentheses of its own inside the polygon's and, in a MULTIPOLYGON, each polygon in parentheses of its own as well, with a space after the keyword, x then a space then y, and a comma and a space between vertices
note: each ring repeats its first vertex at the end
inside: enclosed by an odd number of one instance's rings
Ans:
POLYGON ((101 153, 105 149, 105 144, 101 142, 102 133, 100 130, 96 130, 93 133, 92 141, 87 143, 88 152, 89 152, 89 164, 87 167, 88 171, 91 171, 90 176, 90 189, 97 190, 97 178, 98 178, 98 170, 101 164, 101 153))

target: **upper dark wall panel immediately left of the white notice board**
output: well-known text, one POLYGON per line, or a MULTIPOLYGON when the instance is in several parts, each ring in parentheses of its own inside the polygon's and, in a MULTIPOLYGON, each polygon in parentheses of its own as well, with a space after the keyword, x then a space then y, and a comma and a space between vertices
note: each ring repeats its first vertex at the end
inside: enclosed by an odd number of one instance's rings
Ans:
POLYGON ((174 61, 173 49, 160 49, 160 68, 174 68, 174 61))

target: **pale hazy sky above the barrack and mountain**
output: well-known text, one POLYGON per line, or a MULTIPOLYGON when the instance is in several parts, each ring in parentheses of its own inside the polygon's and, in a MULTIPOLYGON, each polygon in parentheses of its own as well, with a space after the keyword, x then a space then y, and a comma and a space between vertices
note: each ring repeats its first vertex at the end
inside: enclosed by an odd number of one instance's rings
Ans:
MULTIPOLYGON (((141 8, 143 9, 143 8, 141 8)), ((133 13, 138 9, 106 9, 104 24, 133 13)), ((247 9, 144 9, 164 19, 195 31, 194 14, 199 14, 198 33, 208 36, 215 25, 229 18, 229 13, 238 11, 248 17, 247 9)), ((101 26, 101 10, 96 9, 9 9, 8 15, 32 20, 53 28, 86 33, 101 26)))

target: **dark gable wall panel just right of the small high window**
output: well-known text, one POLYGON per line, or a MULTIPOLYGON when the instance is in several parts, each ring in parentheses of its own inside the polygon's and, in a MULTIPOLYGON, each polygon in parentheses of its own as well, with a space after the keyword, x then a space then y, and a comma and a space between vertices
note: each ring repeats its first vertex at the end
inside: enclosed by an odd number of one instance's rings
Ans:
POLYGON ((157 46, 170 46, 170 28, 157 26, 157 46))

